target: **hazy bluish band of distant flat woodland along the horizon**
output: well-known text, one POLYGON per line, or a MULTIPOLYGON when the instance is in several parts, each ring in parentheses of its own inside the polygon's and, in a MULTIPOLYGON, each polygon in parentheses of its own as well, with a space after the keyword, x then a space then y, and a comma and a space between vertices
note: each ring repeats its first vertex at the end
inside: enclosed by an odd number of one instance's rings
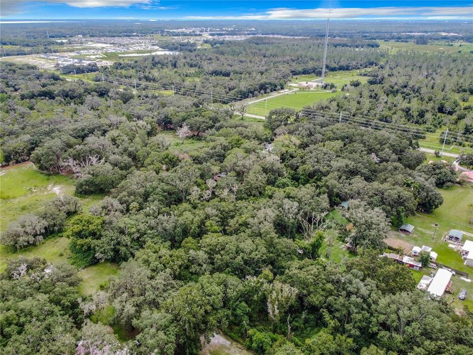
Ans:
MULTIPOLYGON (((46 38, 49 31, 51 38, 72 36, 140 36, 160 34, 162 36, 189 36, 186 32, 169 30, 183 28, 210 29, 214 36, 218 35, 279 35, 279 36, 325 36, 325 20, 298 21, 252 21, 252 20, 163 20, 143 21, 139 24, 127 20, 87 20, 64 23, 34 23, 34 24, 1 24, 2 36, 26 39, 46 38), (235 26, 236 25, 236 26, 235 26)), ((333 37, 359 38, 367 40, 409 40, 419 36, 427 36, 432 41, 464 41, 473 40, 472 24, 464 20, 445 21, 400 21, 400 20, 344 20, 332 21, 330 35, 333 37), (419 35, 421 34, 421 35, 419 35), (451 35, 450 35, 451 34, 451 35), (460 36, 458 36, 460 35, 460 36)))

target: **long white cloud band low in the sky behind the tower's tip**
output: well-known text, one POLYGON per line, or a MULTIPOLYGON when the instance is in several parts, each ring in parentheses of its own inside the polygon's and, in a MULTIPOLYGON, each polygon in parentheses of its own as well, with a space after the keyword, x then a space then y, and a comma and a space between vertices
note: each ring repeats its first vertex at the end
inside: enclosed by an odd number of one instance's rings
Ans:
POLYGON ((345 7, 345 8, 315 8, 315 9, 291 9, 274 8, 259 14, 245 14, 240 16, 187 16, 187 19, 202 20, 290 20, 290 19, 326 19, 331 18, 404 18, 404 17, 428 17, 428 18, 457 18, 473 17, 473 6, 391 6, 391 7, 345 7))

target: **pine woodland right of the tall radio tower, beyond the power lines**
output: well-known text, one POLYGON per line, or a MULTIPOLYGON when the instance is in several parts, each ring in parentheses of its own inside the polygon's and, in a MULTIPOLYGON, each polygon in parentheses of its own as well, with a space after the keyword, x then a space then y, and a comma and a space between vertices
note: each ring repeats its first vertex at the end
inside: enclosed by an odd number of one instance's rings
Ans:
POLYGON ((388 123, 451 125, 454 132, 470 134, 473 107, 465 103, 473 95, 473 67, 466 60, 456 54, 398 52, 370 71, 368 85, 345 85, 349 95, 313 107, 388 123))

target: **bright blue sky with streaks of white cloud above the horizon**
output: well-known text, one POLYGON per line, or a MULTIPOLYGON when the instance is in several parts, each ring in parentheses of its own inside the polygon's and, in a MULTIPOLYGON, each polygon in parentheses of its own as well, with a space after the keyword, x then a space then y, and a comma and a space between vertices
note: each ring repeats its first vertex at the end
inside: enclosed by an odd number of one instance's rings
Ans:
POLYGON ((0 0, 2 19, 473 19, 473 0, 0 0))

